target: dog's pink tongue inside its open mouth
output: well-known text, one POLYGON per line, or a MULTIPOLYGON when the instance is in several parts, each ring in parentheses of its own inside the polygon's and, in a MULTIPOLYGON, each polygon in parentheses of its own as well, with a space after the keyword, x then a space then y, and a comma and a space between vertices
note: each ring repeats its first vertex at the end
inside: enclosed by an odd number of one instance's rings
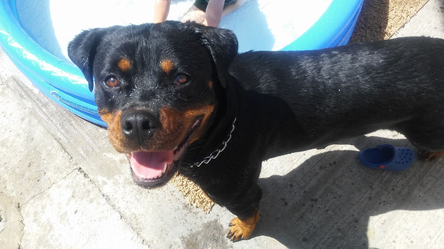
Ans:
POLYGON ((158 177, 165 167, 174 160, 173 150, 163 152, 134 152, 130 163, 133 171, 140 178, 154 179, 158 177))

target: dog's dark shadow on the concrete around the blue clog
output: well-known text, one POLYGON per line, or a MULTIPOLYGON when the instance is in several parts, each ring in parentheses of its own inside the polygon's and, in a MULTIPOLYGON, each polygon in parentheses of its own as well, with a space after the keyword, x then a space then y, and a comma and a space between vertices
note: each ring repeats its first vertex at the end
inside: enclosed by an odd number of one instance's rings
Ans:
MULTIPOLYGON (((361 150, 384 143, 411 146, 407 140, 381 137, 349 144, 361 150)), ((443 159, 415 160, 407 171, 389 172, 361 166, 358 155, 324 152, 284 176, 259 179, 264 195, 254 236, 273 237, 289 248, 366 249, 368 231, 378 229, 369 227, 370 217, 444 207, 443 159)))

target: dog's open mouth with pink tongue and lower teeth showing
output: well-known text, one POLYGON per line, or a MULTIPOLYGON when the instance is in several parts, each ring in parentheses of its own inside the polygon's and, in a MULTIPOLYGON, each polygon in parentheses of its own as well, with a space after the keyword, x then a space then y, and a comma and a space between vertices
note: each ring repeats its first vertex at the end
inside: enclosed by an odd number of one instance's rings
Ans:
POLYGON ((191 125, 182 142, 172 150, 128 154, 134 181, 142 187, 155 187, 169 180, 176 170, 174 163, 182 156, 201 120, 199 118, 191 125))

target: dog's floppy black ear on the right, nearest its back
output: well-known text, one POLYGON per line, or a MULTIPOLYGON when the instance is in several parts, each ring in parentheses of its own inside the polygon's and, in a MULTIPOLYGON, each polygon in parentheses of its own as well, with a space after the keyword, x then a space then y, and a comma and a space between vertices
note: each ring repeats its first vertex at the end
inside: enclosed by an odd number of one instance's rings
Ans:
POLYGON ((202 43, 210 51, 222 87, 226 88, 228 67, 238 54, 238 39, 233 31, 218 27, 196 26, 202 43))

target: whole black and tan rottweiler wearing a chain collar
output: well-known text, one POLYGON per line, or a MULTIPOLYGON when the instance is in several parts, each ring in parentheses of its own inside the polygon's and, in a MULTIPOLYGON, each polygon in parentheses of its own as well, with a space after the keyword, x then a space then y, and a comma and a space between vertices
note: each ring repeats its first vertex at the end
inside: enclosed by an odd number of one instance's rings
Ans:
POLYGON ((229 30, 172 21, 83 31, 68 48, 136 183, 179 171, 238 216, 232 240, 258 222, 263 160, 383 128, 423 160, 443 154, 444 40, 237 48, 229 30))

